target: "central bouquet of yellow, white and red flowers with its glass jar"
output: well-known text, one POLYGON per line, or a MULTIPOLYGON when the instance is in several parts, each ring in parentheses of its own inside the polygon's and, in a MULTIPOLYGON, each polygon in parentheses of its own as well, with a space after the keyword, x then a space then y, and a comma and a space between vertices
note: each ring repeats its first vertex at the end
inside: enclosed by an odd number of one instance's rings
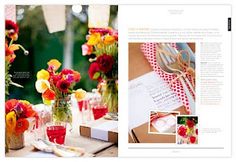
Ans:
POLYGON ((58 72, 61 63, 56 59, 50 60, 47 65, 47 70, 41 69, 37 73, 36 90, 42 93, 44 104, 49 105, 54 101, 52 112, 55 121, 71 123, 70 95, 75 93, 77 100, 85 96, 82 89, 73 90, 75 84, 80 81, 80 73, 71 69, 58 72))

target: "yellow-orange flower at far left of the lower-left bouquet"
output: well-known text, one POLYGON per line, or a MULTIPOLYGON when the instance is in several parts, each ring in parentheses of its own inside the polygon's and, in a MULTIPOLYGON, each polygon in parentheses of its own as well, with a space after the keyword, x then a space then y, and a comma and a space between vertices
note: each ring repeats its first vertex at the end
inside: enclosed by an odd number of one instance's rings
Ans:
POLYGON ((7 133, 11 134, 16 128, 16 113, 14 111, 9 112, 6 115, 6 127, 7 133))

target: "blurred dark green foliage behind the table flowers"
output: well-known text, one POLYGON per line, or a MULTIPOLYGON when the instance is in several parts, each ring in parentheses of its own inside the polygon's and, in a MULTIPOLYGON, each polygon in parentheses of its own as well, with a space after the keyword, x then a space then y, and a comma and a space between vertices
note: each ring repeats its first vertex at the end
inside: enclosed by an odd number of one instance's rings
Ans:
MULTIPOLYGON (((17 6, 17 11, 24 9, 22 19, 17 23, 20 28, 20 43, 29 51, 25 56, 22 51, 16 51, 16 59, 12 64, 10 73, 13 75, 12 80, 24 86, 17 88, 11 86, 9 89, 9 98, 25 99, 33 104, 42 102, 41 94, 35 89, 36 74, 40 69, 47 68, 47 62, 52 59, 58 59, 63 64, 63 46, 65 32, 56 32, 50 34, 46 27, 41 6, 17 6), (27 77, 14 77, 14 74, 26 72, 27 77)), ((71 6, 66 6, 67 10, 71 6)), ((86 13, 87 6, 83 6, 83 12, 86 13)), ((111 6, 110 22, 117 16, 118 6, 111 6)), ((19 16, 19 15, 18 15, 19 16)), ((56 18, 57 15, 55 15, 56 18)), ((87 16, 87 15, 86 15, 87 16)), ((88 19, 88 17, 87 17, 88 19)), ((73 15, 72 28, 74 33, 74 50, 73 50, 73 69, 81 73, 81 81, 75 87, 91 91, 96 88, 97 82, 89 79, 88 68, 90 63, 88 58, 82 56, 81 45, 86 42, 88 32, 88 22, 81 22, 73 15)), ((61 69, 60 69, 61 70, 61 69)))

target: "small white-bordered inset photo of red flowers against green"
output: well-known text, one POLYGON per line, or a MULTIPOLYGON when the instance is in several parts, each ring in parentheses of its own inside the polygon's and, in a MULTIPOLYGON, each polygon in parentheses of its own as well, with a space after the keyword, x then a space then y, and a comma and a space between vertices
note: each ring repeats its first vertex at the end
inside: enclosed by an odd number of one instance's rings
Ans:
POLYGON ((197 144, 198 143, 198 119, 197 117, 178 117, 177 143, 197 144))

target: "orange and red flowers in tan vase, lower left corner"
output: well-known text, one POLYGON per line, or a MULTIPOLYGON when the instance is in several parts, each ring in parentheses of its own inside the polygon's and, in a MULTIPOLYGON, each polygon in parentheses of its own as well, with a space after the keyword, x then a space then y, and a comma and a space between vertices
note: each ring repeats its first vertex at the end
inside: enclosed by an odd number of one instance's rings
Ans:
POLYGON ((29 128, 28 118, 38 118, 31 104, 25 100, 10 99, 5 102, 6 141, 9 149, 24 147, 24 132, 29 128))

